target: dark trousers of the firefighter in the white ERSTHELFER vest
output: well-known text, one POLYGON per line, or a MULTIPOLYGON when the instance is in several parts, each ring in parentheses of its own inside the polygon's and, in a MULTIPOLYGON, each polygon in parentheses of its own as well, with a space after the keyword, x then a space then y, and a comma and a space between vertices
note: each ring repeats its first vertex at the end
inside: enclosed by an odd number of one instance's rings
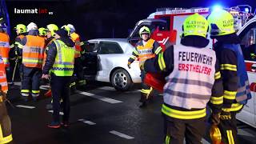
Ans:
POLYGON ((186 138, 187 144, 202 143, 202 137, 206 133, 206 118, 177 119, 164 115, 164 143, 183 144, 186 138))

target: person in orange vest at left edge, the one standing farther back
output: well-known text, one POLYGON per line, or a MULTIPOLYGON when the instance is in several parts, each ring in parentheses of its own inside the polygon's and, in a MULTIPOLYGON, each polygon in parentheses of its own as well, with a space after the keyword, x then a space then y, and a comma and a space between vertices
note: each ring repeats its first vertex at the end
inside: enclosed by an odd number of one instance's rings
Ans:
POLYGON ((4 66, 6 68, 7 72, 7 78, 10 79, 9 74, 9 51, 10 51, 10 38, 9 35, 6 34, 6 31, 4 30, 5 26, 0 26, 0 54, 2 56, 2 61, 4 62, 4 66))

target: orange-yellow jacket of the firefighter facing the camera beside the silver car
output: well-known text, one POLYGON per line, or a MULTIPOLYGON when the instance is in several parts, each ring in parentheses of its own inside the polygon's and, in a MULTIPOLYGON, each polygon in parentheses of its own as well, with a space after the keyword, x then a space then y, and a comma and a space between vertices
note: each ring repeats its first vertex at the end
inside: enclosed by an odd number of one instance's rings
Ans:
POLYGON ((129 58, 128 62, 134 62, 135 58, 139 58, 140 62, 146 61, 148 58, 153 58, 155 54, 162 52, 162 47, 154 39, 150 38, 145 46, 142 41, 139 41, 129 58))

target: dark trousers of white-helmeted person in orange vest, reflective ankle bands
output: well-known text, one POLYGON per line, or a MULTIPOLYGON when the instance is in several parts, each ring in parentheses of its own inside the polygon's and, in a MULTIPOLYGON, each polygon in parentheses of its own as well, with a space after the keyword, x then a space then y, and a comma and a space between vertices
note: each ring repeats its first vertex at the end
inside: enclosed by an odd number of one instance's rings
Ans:
POLYGON ((39 96, 40 79, 42 69, 23 66, 22 68, 22 96, 29 96, 32 88, 32 96, 39 96))

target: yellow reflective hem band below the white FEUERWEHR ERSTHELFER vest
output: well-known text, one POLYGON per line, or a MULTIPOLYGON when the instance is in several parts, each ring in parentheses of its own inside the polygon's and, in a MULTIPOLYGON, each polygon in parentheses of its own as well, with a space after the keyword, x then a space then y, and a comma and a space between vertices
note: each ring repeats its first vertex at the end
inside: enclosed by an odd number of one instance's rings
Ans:
POLYGON ((195 119, 195 118, 203 118, 206 116, 206 108, 202 110, 194 110, 194 111, 181 111, 181 110, 174 110, 166 105, 162 105, 162 113, 166 114, 171 118, 178 118, 178 119, 195 119))

